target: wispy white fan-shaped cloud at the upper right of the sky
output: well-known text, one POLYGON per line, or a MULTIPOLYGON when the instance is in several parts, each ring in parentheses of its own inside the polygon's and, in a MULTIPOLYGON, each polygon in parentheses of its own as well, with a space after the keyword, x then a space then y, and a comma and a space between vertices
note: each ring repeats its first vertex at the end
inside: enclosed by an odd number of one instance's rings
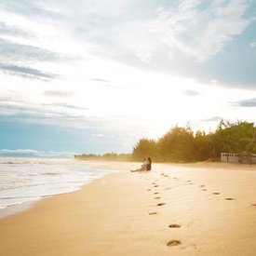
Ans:
POLYGON ((171 49, 207 61, 247 29, 253 21, 243 17, 248 7, 249 1, 181 0, 177 7, 160 8, 151 28, 171 49))

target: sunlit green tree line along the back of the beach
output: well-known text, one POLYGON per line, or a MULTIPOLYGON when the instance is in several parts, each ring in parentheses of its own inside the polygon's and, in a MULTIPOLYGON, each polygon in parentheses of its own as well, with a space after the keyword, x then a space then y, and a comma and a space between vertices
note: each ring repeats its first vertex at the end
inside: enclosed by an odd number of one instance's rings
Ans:
POLYGON ((84 160, 141 161, 151 156, 154 162, 198 162, 220 159, 221 153, 256 153, 254 123, 221 120, 214 132, 193 131, 189 124, 170 128, 157 140, 142 138, 131 154, 74 155, 84 160))

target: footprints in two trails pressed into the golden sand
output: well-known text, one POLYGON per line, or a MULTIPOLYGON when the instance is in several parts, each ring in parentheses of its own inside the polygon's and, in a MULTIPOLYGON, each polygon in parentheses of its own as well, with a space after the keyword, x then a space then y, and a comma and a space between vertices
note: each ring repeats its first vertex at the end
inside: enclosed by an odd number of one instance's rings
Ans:
MULTIPOLYGON (((168 174, 165 174, 163 172, 161 173, 161 175, 163 177, 170 178, 168 176, 168 174)), ((178 178, 175 178, 175 177, 173 178, 173 180, 175 180, 177 182, 180 181, 178 178)), ((156 182, 157 182, 157 180, 155 180, 155 182, 152 182, 152 185, 154 186, 154 188, 159 187, 159 185, 156 182)), ((187 184, 193 185, 194 183, 192 181, 187 181, 187 184)), ((200 185, 199 187, 201 188, 202 191, 208 191, 206 189, 205 185, 200 185)), ((168 190, 170 188, 166 188, 166 189, 168 190)), ((152 191, 152 189, 148 189, 147 191, 152 191)), ((155 195, 154 199, 161 199, 161 197, 159 196, 159 192, 155 192, 154 195, 155 195)), ((219 192, 213 192, 212 195, 220 195, 220 193, 219 192)), ((226 201, 236 200, 236 198, 232 198, 232 197, 225 197, 224 199, 226 201)), ((165 205, 165 203, 157 203, 156 204, 157 207, 161 207, 161 206, 164 206, 164 205, 165 205)), ((251 204, 251 206, 252 207, 256 207, 256 203, 255 204, 251 204)), ((157 213, 158 213, 157 211, 153 211, 153 212, 150 212, 149 215, 156 215, 157 213)), ((168 227, 169 228, 181 228, 182 226, 180 224, 173 223, 173 224, 169 224, 168 227)), ((170 240, 167 243, 168 247, 175 247, 175 246, 180 246, 180 245, 182 245, 182 242, 180 240, 170 240)))

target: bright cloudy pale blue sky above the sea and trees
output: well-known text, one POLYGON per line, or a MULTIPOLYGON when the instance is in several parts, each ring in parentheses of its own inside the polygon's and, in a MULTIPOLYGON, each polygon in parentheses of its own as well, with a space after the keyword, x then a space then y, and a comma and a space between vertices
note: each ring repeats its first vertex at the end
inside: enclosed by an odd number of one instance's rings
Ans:
POLYGON ((0 0, 0 56, 0 155, 255 122, 253 0, 0 0))

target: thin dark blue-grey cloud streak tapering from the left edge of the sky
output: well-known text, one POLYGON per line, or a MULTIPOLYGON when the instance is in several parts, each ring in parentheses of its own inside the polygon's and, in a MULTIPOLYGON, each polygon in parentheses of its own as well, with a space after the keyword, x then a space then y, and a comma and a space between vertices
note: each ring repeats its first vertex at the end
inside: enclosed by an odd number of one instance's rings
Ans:
POLYGON ((22 66, 16 66, 16 65, 7 65, 7 64, 1 64, 0 63, 0 70, 6 71, 8 74, 16 74, 20 75, 24 78, 29 79, 57 79, 60 78, 59 74, 51 74, 47 72, 42 72, 40 70, 36 70, 29 67, 22 67, 22 66))

